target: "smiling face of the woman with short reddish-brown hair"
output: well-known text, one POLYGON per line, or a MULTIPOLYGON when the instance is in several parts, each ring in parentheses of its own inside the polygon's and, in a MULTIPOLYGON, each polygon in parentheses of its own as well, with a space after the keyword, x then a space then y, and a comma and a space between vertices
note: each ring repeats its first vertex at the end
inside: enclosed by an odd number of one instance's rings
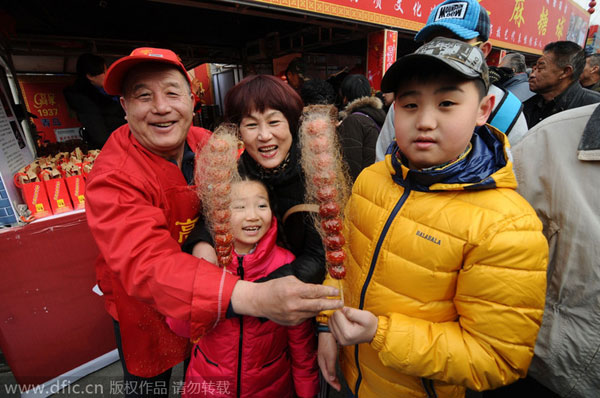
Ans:
POLYGON ((285 160, 292 146, 292 133, 280 111, 253 111, 240 123, 240 134, 248 154, 265 169, 272 169, 285 160))

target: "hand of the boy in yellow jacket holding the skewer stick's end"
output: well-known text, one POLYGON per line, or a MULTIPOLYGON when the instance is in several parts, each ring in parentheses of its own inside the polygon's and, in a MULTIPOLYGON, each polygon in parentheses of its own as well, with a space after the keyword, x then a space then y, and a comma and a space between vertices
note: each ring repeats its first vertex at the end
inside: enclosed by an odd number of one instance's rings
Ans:
POLYGON ((377 331, 377 317, 369 311, 344 307, 329 318, 329 329, 341 345, 370 343, 377 331))

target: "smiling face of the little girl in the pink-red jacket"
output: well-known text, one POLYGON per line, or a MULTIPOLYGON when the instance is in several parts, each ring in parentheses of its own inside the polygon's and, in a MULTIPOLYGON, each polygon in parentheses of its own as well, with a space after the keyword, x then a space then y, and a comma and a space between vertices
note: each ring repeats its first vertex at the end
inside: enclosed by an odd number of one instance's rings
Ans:
POLYGON ((242 181, 231 188, 231 229, 238 254, 246 254, 271 228, 273 213, 265 187, 256 181, 242 181))

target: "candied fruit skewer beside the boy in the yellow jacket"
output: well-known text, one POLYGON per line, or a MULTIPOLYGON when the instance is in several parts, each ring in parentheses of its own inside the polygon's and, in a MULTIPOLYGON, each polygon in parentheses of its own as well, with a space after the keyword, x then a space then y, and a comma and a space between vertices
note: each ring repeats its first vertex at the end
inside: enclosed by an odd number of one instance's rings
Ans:
POLYGON ((346 241, 342 229, 350 184, 342 163, 336 121, 337 111, 333 106, 304 108, 300 146, 306 178, 306 201, 319 205, 315 225, 326 250, 327 271, 331 277, 340 280, 346 275, 346 253, 343 249, 346 241))

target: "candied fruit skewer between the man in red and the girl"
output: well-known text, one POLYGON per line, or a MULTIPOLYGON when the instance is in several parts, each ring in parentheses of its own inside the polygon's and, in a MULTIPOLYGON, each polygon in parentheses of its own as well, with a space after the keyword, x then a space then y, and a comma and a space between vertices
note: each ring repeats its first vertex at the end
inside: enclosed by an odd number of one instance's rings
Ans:
POLYGON ((224 124, 217 128, 196 155, 196 186, 202 212, 215 243, 219 266, 231 264, 231 184, 237 172, 237 127, 224 124))

